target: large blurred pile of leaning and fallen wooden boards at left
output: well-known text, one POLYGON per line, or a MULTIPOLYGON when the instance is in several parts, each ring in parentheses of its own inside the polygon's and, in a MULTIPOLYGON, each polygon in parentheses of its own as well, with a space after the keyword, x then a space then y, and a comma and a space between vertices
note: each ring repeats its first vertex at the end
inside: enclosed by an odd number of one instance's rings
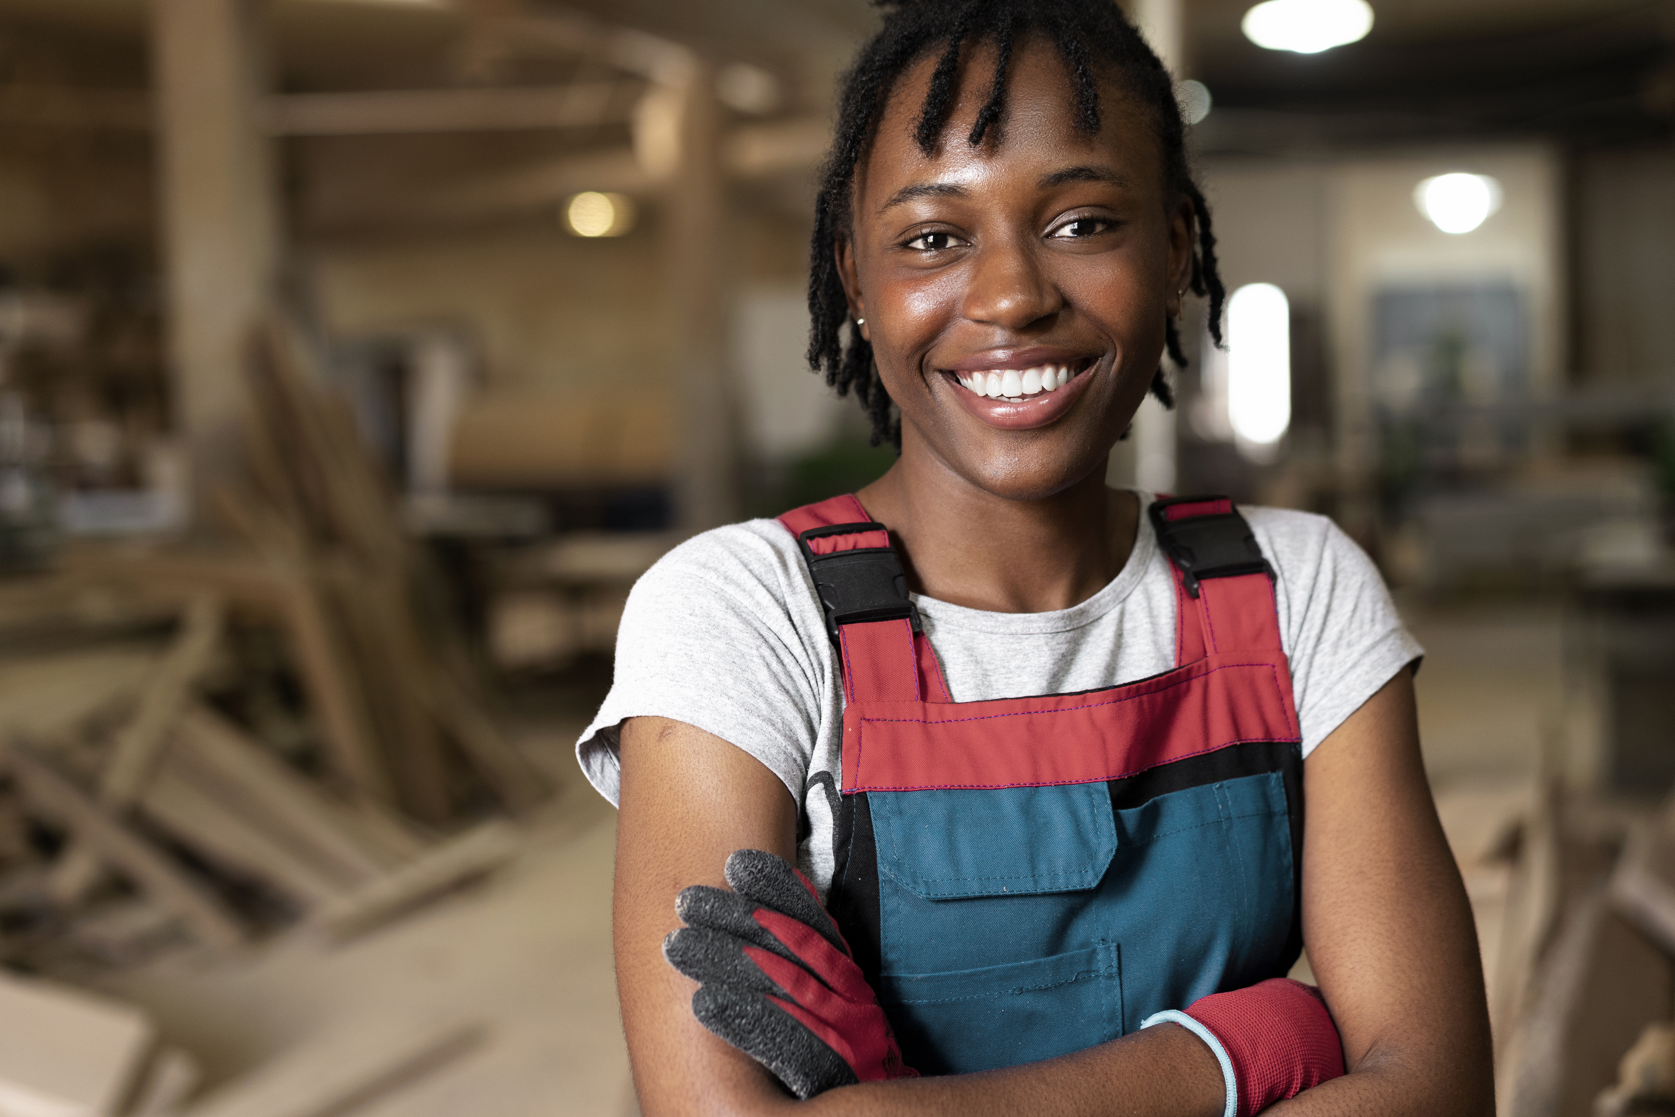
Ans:
POLYGON ((0 955, 15 916, 111 956, 171 929, 213 950, 298 921, 347 934, 509 857, 506 816, 553 790, 477 702, 300 333, 265 328, 251 375, 250 476, 218 492, 231 538, 67 553, 32 586, 173 625, 77 740, 0 723, 0 955))

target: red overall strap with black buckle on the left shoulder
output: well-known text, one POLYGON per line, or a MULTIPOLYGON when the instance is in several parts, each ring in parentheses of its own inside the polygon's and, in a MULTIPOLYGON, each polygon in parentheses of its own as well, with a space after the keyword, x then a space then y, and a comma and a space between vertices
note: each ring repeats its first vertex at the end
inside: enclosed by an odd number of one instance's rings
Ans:
POLYGON ((908 598, 889 531, 853 494, 779 517, 797 538, 826 633, 838 645, 848 702, 951 702, 941 665, 908 598))

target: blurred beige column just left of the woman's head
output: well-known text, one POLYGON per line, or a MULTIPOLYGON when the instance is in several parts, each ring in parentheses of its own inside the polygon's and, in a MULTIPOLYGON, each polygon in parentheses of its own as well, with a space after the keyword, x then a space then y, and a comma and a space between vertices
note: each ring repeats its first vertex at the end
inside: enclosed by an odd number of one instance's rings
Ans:
POLYGON ((724 116, 714 79, 710 65, 693 60, 678 100, 670 102, 678 159, 665 186, 682 432, 675 501, 680 524, 697 531, 739 516, 737 400, 727 368, 724 116))

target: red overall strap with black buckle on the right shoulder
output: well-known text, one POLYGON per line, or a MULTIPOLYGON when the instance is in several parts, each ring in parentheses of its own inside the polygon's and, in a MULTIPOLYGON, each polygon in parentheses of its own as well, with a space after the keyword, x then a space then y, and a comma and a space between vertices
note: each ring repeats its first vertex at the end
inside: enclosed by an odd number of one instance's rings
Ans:
POLYGON ((1149 514, 1174 568, 1176 667, 1216 651, 1283 651, 1273 566, 1233 501, 1159 497, 1149 514))

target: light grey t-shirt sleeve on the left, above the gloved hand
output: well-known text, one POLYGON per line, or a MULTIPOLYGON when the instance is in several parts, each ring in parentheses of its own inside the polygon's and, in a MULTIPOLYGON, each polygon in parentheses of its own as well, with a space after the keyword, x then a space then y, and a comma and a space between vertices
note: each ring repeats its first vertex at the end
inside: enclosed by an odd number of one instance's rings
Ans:
POLYGON ((802 613, 819 623, 801 566, 749 526, 663 556, 628 595, 611 690, 576 744, 593 787, 616 802, 625 718, 667 717, 744 749, 801 802, 831 670, 802 613))

